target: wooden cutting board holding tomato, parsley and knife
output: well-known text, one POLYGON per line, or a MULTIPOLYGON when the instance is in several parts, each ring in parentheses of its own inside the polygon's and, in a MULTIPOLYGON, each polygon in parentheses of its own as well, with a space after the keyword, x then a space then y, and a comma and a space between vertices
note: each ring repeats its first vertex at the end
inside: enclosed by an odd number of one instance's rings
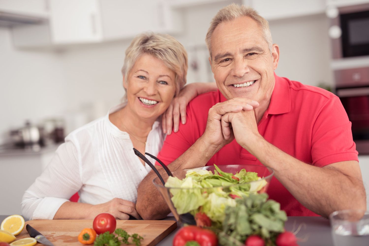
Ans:
MULTIPOLYGON (((78 242, 78 235, 83 228, 92 228, 93 220, 76 220, 76 219, 60 219, 60 220, 31 220, 25 222, 30 224, 37 231, 42 233, 45 238, 49 239, 55 246, 58 245, 76 245, 82 246, 78 242)), ((145 220, 117 220, 117 228, 127 231, 129 234, 137 233, 142 236, 141 246, 153 246, 159 243, 170 232, 177 228, 176 221, 145 221, 145 220)), ((27 230, 17 236, 17 240, 28 238, 30 235, 27 230)), ((37 243, 36 245, 42 245, 37 243)), ((135 246, 135 245, 132 245, 135 246)))

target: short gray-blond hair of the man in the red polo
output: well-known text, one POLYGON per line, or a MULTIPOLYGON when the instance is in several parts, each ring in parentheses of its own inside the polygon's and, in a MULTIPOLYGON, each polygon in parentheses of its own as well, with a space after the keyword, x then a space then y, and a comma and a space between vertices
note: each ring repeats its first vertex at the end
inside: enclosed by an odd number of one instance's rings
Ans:
POLYGON ((272 53, 273 40, 272 34, 270 33, 268 21, 265 20, 265 18, 263 18, 261 15, 259 15, 258 12, 254 10, 254 8, 232 3, 219 10, 218 13, 214 16, 213 20, 211 20, 210 22, 210 27, 207 31, 205 38, 206 45, 210 53, 210 58, 212 55, 211 36, 213 35, 215 28, 222 22, 233 21, 243 16, 248 16, 252 18, 260 25, 263 31, 263 38, 265 39, 265 41, 269 46, 270 53, 272 53))

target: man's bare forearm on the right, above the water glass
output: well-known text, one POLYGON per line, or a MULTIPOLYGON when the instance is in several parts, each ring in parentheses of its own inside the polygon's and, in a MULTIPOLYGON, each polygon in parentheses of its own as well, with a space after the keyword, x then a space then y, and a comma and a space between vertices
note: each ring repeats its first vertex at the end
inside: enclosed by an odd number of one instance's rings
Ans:
POLYGON ((340 209, 366 209, 361 177, 347 176, 329 166, 321 168, 303 163, 262 137, 257 138, 247 148, 249 152, 273 168, 275 177, 306 208, 325 217, 340 209))

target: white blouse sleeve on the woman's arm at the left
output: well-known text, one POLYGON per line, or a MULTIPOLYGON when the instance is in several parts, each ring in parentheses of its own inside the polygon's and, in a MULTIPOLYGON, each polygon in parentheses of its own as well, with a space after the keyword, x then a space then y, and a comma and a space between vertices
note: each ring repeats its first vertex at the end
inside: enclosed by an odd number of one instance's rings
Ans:
POLYGON ((68 136, 41 176, 25 191, 21 202, 23 216, 53 219, 61 205, 80 190, 82 179, 75 142, 73 136, 68 136))

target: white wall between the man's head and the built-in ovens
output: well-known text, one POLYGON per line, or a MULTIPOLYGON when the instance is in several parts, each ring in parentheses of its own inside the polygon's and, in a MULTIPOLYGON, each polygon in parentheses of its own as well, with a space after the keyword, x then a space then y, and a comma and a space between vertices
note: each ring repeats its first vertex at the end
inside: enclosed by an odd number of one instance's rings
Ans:
POLYGON ((316 86, 333 84, 328 18, 325 14, 269 22, 273 43, 279 45, 278 76, 316 86))

